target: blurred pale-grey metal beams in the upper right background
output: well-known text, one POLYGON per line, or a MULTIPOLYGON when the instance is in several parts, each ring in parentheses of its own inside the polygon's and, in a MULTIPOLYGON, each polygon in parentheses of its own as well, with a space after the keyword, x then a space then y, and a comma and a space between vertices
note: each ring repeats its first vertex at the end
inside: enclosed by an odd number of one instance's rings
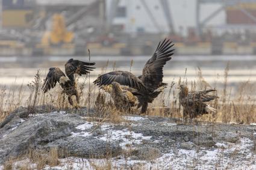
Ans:
POLYGON ((226 7, 235 7, 237 10, 240 10, 245 16, 255 22, 254 25, 220 25, 217 28, 220 29, 236 29, 236 28, 255 28, 256 27, 256 17, 249 13, 245 8, 239 7, 241 3, 251 3, 256 0, 197 0, 196 2, 196 30, 198 35, 202 35, 202 30, 207 27, 207 23, 210 22, 214 17, 217 16, 220 12, 225 10, 226 7), (204 7, 204 4, 220 4, 221 6, 217 8, 213 13, 209 14, 204 20, 201 20, 201 8, 204 7))

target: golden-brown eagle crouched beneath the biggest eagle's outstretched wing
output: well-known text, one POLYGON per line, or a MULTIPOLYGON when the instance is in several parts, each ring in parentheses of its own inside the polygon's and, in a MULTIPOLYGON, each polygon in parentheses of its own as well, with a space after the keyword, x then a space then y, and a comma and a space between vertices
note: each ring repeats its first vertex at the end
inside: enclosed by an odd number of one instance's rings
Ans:
POLYGON ((120 83, 112 82, 110 85, 102 87, 103 90, 110 93, 114 106, 119 111, 130 111, 130 109, 139 104, 136 96, 141 94, 134 88, 125 87, 120 83))

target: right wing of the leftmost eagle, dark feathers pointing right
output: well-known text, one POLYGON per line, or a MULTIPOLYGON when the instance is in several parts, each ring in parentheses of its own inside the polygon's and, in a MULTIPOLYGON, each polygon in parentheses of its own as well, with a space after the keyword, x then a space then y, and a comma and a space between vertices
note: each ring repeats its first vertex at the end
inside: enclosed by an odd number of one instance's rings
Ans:
POLYGON ((74 82, 74 76, 73 74, 88 74, 90 71, 93 71, 92 69, 95 67, 88 67, 87 65, 95 65, 95 62, 83 62, 79 60, 74 60, 73 58, 69 59, 67 63, 65 64, 65 71, 67 74, 67 77, 74 82))

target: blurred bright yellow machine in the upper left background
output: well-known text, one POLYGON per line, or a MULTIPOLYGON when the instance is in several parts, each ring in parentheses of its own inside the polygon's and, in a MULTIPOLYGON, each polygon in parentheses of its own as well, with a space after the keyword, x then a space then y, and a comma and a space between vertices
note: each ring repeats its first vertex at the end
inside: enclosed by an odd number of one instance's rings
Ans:
POLYGON ((52 29, 45 32, 42 37, 43 46, 72 43, 73 32, 66 30, 65 20, 61 14, 54 14, 52 17, 52 29))

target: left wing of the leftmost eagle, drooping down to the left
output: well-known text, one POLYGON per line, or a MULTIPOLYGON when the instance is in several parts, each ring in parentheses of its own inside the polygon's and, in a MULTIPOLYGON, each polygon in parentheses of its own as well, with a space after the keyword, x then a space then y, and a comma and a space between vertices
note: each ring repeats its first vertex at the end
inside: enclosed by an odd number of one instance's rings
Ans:
POLYGON ((45 78, 45 82, 43 83, 43 93, 46 93, 51 88, 54 88, 57 82, 60 82, 60 77, 65 76, 63 71, 60 70, 58 67, 51 67, 49 68, 49 72, 45 78))

